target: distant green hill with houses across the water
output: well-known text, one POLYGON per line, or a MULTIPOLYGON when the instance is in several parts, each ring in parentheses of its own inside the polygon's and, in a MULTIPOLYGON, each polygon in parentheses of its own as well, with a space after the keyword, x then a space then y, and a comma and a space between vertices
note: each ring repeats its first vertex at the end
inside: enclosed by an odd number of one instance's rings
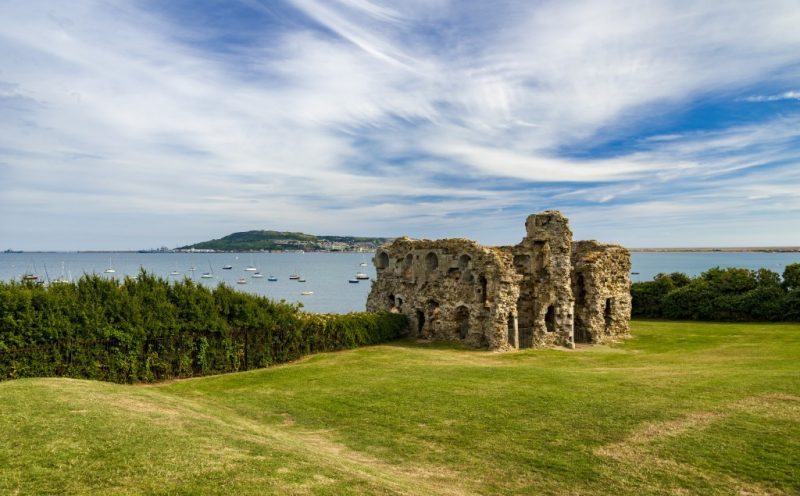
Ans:
POLYGON ((301 232, 245 231, 223 238, 182 246, 179 250, 260 251, 260 250, 374 250, 392 238, 358 236, 315 236, 301 232))

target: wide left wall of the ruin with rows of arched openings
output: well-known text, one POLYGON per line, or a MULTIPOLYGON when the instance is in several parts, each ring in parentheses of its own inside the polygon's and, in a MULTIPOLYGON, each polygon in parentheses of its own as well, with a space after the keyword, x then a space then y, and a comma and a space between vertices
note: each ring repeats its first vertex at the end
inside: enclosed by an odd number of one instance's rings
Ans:
POLYGON ((404 313, 410 336, 492 349, 516 341, 520 277, 508 253, 465 239, 400 238, 374 263, 367 310, 404 313))

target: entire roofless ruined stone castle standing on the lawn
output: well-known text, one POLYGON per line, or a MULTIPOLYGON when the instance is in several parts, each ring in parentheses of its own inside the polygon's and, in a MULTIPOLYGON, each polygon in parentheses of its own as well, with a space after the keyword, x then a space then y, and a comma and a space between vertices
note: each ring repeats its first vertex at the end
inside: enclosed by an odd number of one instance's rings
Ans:
POLYGON ((409 238, 382 246, 367 310, 407 315, 413 337, 498 350, 627 336, 628 250, 572 241, 558 211, 531 215, 525 227, 515 246, 409 238))

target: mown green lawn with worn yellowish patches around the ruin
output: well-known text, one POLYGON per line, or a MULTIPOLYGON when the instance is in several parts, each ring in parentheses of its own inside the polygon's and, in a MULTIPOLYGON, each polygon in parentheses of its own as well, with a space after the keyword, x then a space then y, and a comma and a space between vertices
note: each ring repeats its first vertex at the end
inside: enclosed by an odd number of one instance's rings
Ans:
POLYGON ((156 386, 0 383, 0 494, 797 494, 800 325, 398 342, 156 386))

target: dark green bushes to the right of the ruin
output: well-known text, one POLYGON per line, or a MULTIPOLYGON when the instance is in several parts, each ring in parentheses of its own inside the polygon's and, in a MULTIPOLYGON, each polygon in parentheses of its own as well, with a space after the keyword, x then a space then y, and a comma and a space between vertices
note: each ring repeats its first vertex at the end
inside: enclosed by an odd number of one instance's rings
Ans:
POLYGON ((633 317, 673 320, 800 321, 800 263, 783 277, 768 269, 715 267, 697 277, 658 274, 631 285, 633 317))

